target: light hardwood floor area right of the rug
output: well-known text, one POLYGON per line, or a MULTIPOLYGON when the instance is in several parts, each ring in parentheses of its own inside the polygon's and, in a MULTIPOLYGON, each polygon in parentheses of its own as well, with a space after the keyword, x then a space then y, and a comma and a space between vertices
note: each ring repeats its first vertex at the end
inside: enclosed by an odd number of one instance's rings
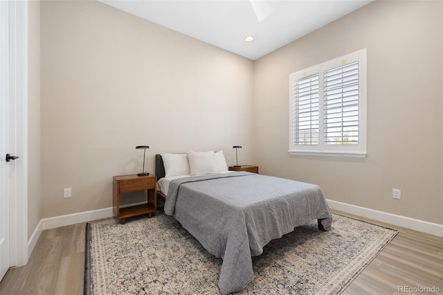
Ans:
POLYGON ((340 214, 399 231, 343 294, 443 294, 443 238, 340 214))

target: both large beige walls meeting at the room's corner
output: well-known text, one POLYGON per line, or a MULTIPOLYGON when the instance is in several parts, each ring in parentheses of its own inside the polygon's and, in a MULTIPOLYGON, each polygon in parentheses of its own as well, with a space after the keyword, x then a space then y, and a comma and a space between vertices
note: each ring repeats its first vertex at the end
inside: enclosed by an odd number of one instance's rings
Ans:
POLYGON ((111 206, 111 177, 141 170, 136 145, 151 146, 154 172, 159 152, 223 149, 232 165, 240 144, 240 161, 264 174, 443 224, 442 12, 441 1, 375 1, 252 62, 103 3, 43 1, 42 202, 29 205, 40 218, 111 206), (368 157, 290 156, 289 73, 361 48, 368 157))

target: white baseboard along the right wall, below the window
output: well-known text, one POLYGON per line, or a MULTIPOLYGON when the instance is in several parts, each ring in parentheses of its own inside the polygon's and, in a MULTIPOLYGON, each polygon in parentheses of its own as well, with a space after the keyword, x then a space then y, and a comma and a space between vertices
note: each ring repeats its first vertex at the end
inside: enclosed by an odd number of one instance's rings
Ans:
POLYGON ((424 220, 415 220, 410 217, 401 215, 395 215, 386 213, 383 211, 372 210, 369 208, 354 206, 351 204, 341 203, 327 200, 329 208, 342 211, 344 213, 350 213, 353 215, 370 218, 379 222, 386 222, 388 224, 401 226, 406 229, 413 229, 414 231, 421 231, 422 233, 428 233, 430 235, 437 235, 443 238, 443 224, 436 224, 432 222, 426 222, 424 220))

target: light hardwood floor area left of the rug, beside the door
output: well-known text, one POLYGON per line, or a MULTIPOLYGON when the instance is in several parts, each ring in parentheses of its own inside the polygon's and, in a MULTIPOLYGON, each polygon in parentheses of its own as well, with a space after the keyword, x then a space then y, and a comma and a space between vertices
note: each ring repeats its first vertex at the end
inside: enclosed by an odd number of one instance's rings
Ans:
POLYGON ((86 224, 43 231, 24 267, 9 269, 0 294, 82 294, 86 224))

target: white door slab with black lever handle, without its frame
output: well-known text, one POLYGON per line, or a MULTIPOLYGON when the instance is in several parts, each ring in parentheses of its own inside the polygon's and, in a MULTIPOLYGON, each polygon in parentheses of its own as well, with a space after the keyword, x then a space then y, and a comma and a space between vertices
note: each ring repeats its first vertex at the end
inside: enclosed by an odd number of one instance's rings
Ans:
MULTIPOLYGON (((10 177, 14 162, 6 162, 10 144, 9 3, 0 1, 0 279, 10 267, 10 177), (12 164, 12 165, 10 165, 12 164)), ((13 179, 12 179, 13 181, 13 179)))

